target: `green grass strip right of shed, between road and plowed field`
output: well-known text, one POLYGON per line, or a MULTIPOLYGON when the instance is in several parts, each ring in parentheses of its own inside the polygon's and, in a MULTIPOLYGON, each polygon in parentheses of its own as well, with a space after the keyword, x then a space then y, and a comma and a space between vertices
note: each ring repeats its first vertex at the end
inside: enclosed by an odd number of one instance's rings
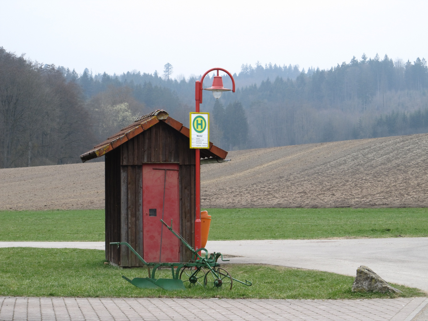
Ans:
POLYGON ((209 239, 428 237, 428 208, 211 208, 209 239))

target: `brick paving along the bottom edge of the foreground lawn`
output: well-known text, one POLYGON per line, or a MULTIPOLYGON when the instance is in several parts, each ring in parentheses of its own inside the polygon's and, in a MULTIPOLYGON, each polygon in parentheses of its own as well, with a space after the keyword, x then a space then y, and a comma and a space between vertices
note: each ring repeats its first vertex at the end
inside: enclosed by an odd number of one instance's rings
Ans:
POLYGON ((411 321, 426 297, 373 300, 229 300, 0 297, 1 321, 411 321))

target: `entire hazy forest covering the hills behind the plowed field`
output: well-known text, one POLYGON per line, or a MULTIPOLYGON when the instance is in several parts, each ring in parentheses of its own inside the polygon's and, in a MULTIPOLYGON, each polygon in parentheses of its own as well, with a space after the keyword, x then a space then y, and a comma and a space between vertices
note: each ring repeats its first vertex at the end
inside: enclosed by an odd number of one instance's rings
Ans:
MULTIPOLYGON (((211 141, 226 150, 428 132, 424 58, 364 54, 328 70, 256 62, 233 77, 235 93, 215 100, 204 92, 201 105, 211 113, 211 141)), ((199 79, 174 76, 169 63, 152 73, 78 73, 0 48, 0 168, 79 162, 159 108, 188 126, 199 79)), ((223 83, 232 86, 228 76, 223 83)))

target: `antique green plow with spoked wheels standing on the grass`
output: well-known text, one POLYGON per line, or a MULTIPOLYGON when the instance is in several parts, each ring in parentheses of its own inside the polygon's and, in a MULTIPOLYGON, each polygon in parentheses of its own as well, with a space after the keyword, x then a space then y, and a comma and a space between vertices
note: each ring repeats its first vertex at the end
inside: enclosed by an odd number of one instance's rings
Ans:
POLYGON ((222 288, 229 287, 232 290, 233 281, 242 283, 247 286, 251 286, 252 283, 248 280, 242 282, 234 279, 230 276, 229 272, 223 268, 220 268, 220 264, 217 260, 221 258, 222 261, 229 261, 223 259, 221 253, 211 253, 208 256, 208 251, 205 248, 194 250, 177 232, 168 226, 163 220, 160 220, 183 244, 193 253, 193 260, 187 263, 183 262, 172 262, 172 263, 160 263, 160 262, 146 262, 132 247, 126 242, 112 242, 110 245, 126 245, 137 258, 147 265, 149 269, 149 276, 146 278, 136 277, 134 279, 128 279, 122 275, 122 278, 127 280, 137 288, 163 288, 165 290, 185 290, 186 283, 187 287, 203 285, 205 288, 222 288), (200 256, 199 252, 204 251, 205 256, 200 256), (171 268, 172 278, 171 279, 156 279, 155 273, 159 267, 171 268), (152 268, 152 271, 150 271, 152 268))

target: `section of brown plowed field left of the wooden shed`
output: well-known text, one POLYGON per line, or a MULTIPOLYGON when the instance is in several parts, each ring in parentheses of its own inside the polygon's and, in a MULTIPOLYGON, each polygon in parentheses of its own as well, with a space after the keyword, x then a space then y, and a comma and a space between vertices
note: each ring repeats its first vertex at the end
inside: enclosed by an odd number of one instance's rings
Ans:
POLYGON ((0 169, 0 210, 104 208, 104 163, 0 169))

